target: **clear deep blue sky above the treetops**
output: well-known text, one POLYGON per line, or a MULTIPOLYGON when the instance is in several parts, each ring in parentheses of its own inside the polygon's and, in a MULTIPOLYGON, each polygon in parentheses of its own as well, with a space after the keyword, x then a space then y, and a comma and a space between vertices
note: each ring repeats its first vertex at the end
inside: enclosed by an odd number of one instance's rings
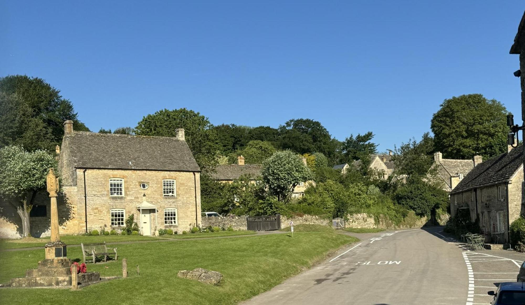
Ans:
POLYGON ((91 130, 163 108, 213 124, 320 121, 379 150, 429 131, 451 96, 519 117, 522 1, 0 2, 0 75, 44 78, 91 130))

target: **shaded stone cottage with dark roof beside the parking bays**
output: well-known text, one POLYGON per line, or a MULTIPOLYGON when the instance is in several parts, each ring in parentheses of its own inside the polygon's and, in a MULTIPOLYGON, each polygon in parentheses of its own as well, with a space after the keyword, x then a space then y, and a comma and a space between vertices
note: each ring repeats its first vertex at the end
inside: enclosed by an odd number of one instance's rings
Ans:
POLYGON ((487 241, 507 243, 509 225, 523 211, 522 155, 519 146, 476 165, 450 192, 451 216, 468 209, 487 241))

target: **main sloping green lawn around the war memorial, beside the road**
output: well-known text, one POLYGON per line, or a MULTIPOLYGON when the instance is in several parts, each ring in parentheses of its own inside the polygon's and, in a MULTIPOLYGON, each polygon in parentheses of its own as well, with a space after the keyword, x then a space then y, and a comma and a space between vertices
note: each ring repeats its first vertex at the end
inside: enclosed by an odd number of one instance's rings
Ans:
MULTIPOLYGON (((119 245, 119 257, 128 259, 130 277, 69 289, 0 289, 4 304, 236 304, 264 292, 358 239, 328 232, 270 234, 250 238, 220 238, 184 243, 119 245), (140 266, 137 276, 135 266, 140 266), (220 286, 177 278, 177 271, 202 267, 224 275, 220 286)), ((68 249, 79 259, 80 248, 68 249)), ((44 258, 44 250, 3 252, 0 282, 24 276, 44 258)), ((102 276, 122 274, 121 261, 88 265, 102 276), (107 267, 107 268, 106 268, 107 267)))

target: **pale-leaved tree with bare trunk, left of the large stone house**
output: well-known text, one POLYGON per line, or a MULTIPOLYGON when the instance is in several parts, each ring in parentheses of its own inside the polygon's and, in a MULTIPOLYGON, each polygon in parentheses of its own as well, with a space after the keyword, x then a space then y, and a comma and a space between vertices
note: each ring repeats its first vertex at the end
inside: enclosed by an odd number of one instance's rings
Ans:
POLYGON ((22 220, 22 236, 30 236, 29 212, 36 193, 46 187, 49 168, 55 157, 44 150, 31 153, 19 146, 0 149, 0 197, 16 209, 22 220))

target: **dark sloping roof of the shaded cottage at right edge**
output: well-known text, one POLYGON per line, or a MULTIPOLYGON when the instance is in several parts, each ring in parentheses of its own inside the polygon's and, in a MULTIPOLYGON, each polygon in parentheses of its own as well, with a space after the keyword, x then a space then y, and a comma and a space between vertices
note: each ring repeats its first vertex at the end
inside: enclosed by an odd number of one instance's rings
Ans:
POLYGON ((481 162, 461 180, 451 194, 510 180, 523 164, 523 146, 481 162))

